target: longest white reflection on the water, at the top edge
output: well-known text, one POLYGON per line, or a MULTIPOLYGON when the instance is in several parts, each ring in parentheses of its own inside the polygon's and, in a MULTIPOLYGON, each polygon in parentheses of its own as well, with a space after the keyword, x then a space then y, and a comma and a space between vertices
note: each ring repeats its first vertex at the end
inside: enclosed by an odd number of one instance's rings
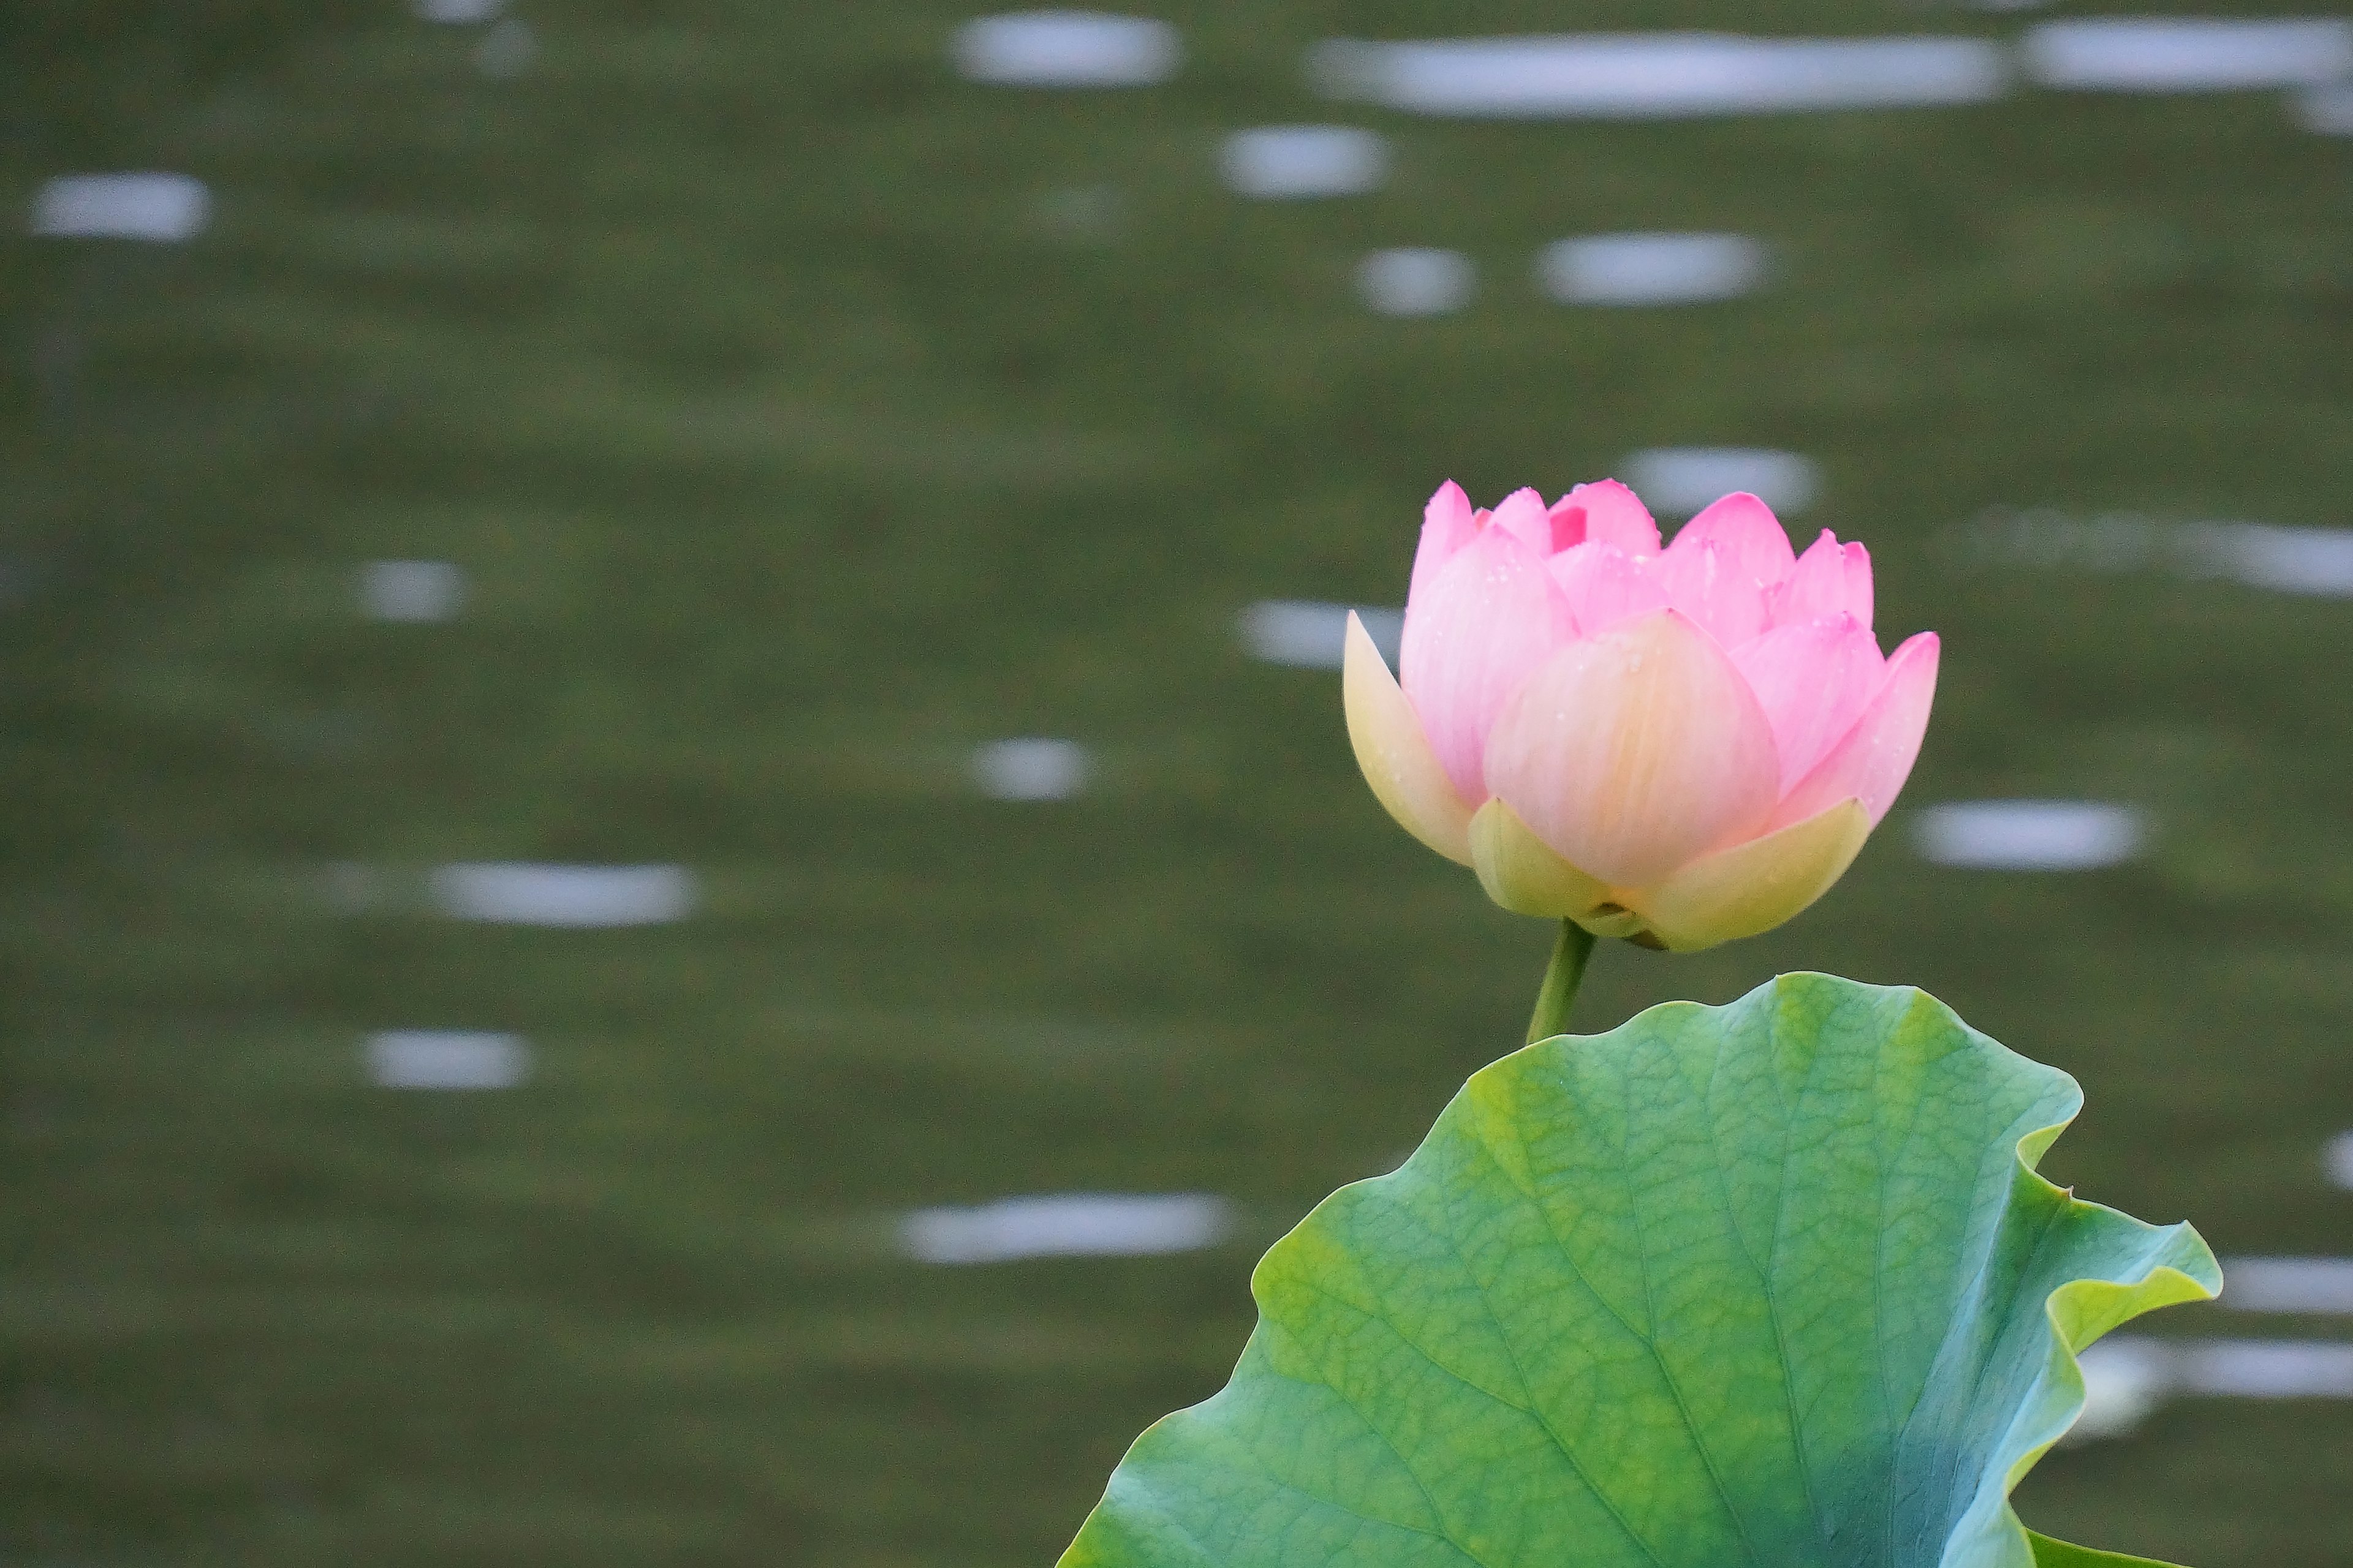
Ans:
POLYGON ((2009 80, 1977 38, 1546 38, 1329 40, 1308 49, 1329 96, 1480 120, 1682 118, 1906 103, 1984 103, 2009 80))

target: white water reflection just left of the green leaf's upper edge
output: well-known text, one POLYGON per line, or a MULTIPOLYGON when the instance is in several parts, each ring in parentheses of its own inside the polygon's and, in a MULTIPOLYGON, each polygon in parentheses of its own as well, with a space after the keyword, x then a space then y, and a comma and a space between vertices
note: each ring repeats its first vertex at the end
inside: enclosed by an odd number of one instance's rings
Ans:
POLYGON ((976 1208, 918 1208, 899 1220, 899 1246, 922 1262, 1144 1258, 1217 1246, 1228 1229, 1226 1201, 1200 1192, 1061 1192, 976 1208))

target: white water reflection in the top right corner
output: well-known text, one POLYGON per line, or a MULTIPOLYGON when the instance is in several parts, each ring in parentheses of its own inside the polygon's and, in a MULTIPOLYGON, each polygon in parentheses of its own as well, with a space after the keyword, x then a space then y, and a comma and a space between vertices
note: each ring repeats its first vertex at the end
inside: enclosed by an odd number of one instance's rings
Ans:
POLYGON ((2287 16, 2099 16, 2045 21, 2019 45, 2042 87, 2221 92, 2304 87, 2353 75, 2353 21, 2287 16))

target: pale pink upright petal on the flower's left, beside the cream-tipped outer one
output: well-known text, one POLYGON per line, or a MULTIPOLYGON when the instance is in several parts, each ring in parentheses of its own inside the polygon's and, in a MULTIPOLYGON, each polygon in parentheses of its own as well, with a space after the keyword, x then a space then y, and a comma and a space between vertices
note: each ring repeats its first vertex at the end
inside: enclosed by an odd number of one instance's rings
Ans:
POLYGON ((1480 757, 1494 715, 1572 635, 1569 602, 1544 557, 1499 527, 1480 529, 1405 602, 1398 672, 1464 802, 1487 799, 1480 757))

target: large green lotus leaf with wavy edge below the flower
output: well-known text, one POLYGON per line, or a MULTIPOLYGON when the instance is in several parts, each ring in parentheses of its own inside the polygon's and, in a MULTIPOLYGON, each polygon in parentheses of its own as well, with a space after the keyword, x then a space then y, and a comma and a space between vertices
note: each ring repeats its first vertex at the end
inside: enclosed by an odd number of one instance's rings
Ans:
POLYGON ((1259 1262, 1233 1380, 1064 1568, 2082 1568, 2009 1488, 2075 1352, 2221 1288, 2035 1161, 2075 1081, 1781 976, 1473 1074, 1259 1262))

